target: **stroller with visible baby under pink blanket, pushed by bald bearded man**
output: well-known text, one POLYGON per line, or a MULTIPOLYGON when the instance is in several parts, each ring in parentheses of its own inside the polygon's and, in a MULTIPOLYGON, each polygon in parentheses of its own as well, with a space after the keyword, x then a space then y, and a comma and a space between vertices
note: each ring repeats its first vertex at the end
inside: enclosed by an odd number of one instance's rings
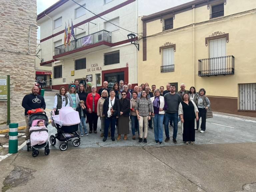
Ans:
POLYGON ((29 116, 28 120, 30 129, 30 143, 27 144, 27 151, 32 148, 32 156, 36 157, 39 154, 38 149, 44 148, 44 154, 49 155, 49 142, 48 142, 48 117, 46 113, 34 113, 29 116), (38 127, 37 122, 42 120, 44 126, 38 127))

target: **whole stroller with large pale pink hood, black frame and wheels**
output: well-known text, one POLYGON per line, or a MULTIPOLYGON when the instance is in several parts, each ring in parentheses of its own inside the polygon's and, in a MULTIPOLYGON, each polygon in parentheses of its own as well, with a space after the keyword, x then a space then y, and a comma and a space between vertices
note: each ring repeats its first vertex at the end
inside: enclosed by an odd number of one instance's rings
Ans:
POLYGON ((50 143, 55 145, 56 139, 65 141, 60 145, 61 151, 65 151, 68 148, 68 141, 71 140, 73 140, 73 145, 78 147, 81 141, 81 138, 77 133, 80 123, 78 111, 75 111, 72 107, 62 107, 59 111, 59 115, 54 115, 54 111, 51 111, 50 115, 52 126, 57 129, 55 136, 50 136, 50 143))

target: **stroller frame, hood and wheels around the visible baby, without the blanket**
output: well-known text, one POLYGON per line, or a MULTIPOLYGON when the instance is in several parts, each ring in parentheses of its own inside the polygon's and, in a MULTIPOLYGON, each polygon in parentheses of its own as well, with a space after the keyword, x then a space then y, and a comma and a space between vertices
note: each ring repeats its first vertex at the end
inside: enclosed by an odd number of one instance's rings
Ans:
MULTIPOLYGON (((45 143, 37 144, 37 145, 34 145, 34 146, 31 146, 31 143, 27 144, 27 151, 29 151, 29 149, 32 148, 32 156, 33 157, 38 156, 38 154, 39 154, 38 149, 43 149, 44 148, 44 154, 45 155, 49 155, 49 153, 50 153, 49 142, 48 142, 48 130, 47 130, 49 120, 48 120, 48 117, 46 116, 46 113, 44 112, 44 113, 31 114, 29 116, 28 123, 29 123, 30 128, 35 127, 35 126, 37 126, 37 122, 39 120, 42 120, 44 122, 44 126, 46 127, 46 129, 30 130, 29 132, 30 133, 32 133, 32 132, 39 132, 39 133, 41 132, 42 133, 42 132, 46 131, 47 132, 47 141, 45 143)), ((30 140, 33 139, 33 138, 31 138, 31 136, 32 136, 32 134, 30 135, 30 140)))

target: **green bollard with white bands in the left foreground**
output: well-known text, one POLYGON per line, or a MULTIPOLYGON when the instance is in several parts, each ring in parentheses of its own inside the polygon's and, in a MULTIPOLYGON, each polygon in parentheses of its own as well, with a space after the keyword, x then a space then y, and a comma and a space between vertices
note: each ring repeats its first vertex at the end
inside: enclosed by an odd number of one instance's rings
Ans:
POLYGON ((18 152, 18 123, 9 124, 9 153, 18 152))

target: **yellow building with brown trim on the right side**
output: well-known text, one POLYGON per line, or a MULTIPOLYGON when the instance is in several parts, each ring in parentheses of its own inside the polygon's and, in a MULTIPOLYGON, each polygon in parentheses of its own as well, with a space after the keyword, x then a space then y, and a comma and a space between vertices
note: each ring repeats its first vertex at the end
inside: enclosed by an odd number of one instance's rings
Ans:
POLYGON ((195 0, 139 18, 138 84, 206 89, 214 111, 256 117, 256 1, 195 0))

